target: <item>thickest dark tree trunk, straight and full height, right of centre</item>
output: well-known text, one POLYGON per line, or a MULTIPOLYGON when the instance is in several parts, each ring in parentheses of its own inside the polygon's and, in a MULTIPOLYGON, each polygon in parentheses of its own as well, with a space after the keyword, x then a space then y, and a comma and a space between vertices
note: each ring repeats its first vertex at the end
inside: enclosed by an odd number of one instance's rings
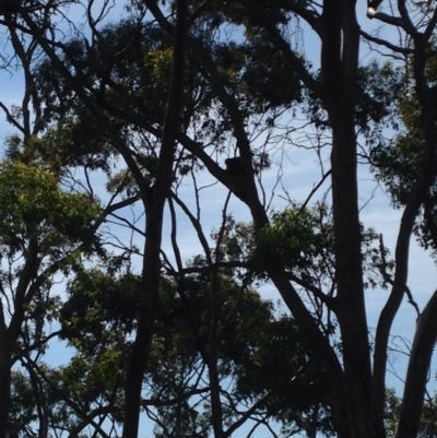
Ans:
MULTIPOLYGON (((326 0, 322 13, 321 80, 332 127, 332 209, 350 434, 373 436, 370 358, 364 303, 358 215, 355 94, 359 27, 354 1, 326 0)), ((340 419, 342 421, 342 419, 340 419)))

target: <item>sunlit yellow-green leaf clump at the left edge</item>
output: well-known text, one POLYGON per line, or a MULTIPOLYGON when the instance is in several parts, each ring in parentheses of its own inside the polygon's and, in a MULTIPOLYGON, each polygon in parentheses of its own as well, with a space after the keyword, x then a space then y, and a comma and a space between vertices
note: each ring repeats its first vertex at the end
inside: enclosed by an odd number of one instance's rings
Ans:
POLYGON ((38 239, 42 252, 58 254, 72 245, 87 240, 98 220, 96 200, 82 193, 64 192, 59 177, 50 168, 36 163, 4 161, 0 171, 1 245, 9 256, 38 239))

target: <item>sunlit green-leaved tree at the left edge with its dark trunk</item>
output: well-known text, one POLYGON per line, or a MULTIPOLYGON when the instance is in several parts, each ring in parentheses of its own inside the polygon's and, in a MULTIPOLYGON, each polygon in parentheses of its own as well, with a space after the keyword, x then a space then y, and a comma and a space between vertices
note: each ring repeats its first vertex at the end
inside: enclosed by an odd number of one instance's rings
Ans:
POLYGON ((47 342, 44 324, 58 304, 50 294, 52 277, 71 270, 82 253, 96 250, 98 240, 90 233, 101 208, 85 194, 63 192, 57 175, 34 163, 5 159, 0 175, 4 260, 0 415, 7 434, 12 366, 47 342))

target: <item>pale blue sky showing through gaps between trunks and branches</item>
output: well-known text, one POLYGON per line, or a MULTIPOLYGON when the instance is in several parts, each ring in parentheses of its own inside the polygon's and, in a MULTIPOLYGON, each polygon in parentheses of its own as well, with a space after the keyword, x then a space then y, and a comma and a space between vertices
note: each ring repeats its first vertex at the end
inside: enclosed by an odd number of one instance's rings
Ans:
MULTIPOLYGON (((121 3, 119 3, 121 4, 121 3)), ((108 19, 111 17, 118 19, 120 15, 119 5, 114 9, 108 19)), ((378 28, 377 22, 370 22, 365 16, 366 5, 365 2, 361 2, 358 4, 358 11, 361 16, 361 22, 363 27, 367 32, 376 32, 378 28)), ((72 11, 69 15, 70 17, 74 17, 74 14, 78 15, 80 20, 81 13, 78 11, 72 11)), ((309 29, 304 28, 306 33, 306 37, 304 39, 305 51, 309 59, 314 62, 315 66, 318 63, 318 42, 309 29)), ((394 34, 382 33, 382 36, 392 38, 395 40, 398 37, 394 34)), ((1 47, 0 40, 0 47, 1 47)), ((363 47, 363 62, 368 61, 371 57, 376 56, 375 54, 369 54, 363 47)), ((14 103, 20 103, 22 99, 22 84, 23 79, 21 74, 11 74, 12 72, 0 71, 0 100, 10 106, 14 103)), ((5 135, 11 133, 12 127, 5 121, 5 118, 0 114, 0 140, 4 139, 5 135)), ((273 161, 280 159, 281 156, 273 156, 273 161)), ((322 158, 323 161, 328 161, 328 150, 327 156, 322 158)), ((95 175, 95 180, 98 184, 101 179, 103 181, 102 176, 95 175)), ((304 201, 311 190, 314 185, 320 178, 320 168, 318 167, 317 157, 311 151, 305 151, 303 149, 296 150, 295 147, 290 147, 290 153, 287 154, 286 159, 283 162, 283 178, 282 185, 286 188, 287 192, 291 197, 298 201, 304 201)), ((264 184, 268 192, 273 192, 273 202, 272 205, 275 209, 281 209, 285 205, 283 199, 283 192, 280 187, 273 189, 274 184, 276 181, 275 174, 267 174, 264 184)), ((214 182, 213 180, 203 179, 202 184, 208 186, 210 182, 214 182)), ((358 182, 359 182, 359 200, 362 204, 361 210, 361 218, 365 226, 375 228, 378 233, 383 235, 385 244, 390 249, 391 253, 394 253, 395 238, 400 224, 400 215, 401 212, 395 211, 391 206, 390 199, 388 194, 385 192, 383 188, 378 186, 375 182, 375 178, 368 173, 368 169, 364 166, 358 168, 358 182)), ((329 190, 329 181, 327 181, 318 192, 318 194, 322 194, 329 190)), ((180 188, 180 192, 182 198, 187 200, 188 203, 192 205, 192 189, 187 184, 182 185, 180 188)), ((209 235, 210 230, 213 228, 218 228, 222 222, 222 208, 224 204, 224 200, 226 199, 227 192, 223 190, 218 185, 205 188, 201 192, 201 204, 202 204, 202 225, 204 233, 209 235)), ((137 216, 141 215, 140 208, 133 209, 133 212, 137 216)), ((243 205, 240 202, 237 202, 235 199, 232 199, 228 208, 228 212, 232 213, 239 221, 250 221, 250 214, 248 209, 243 205)), ((128 237, 129 232, 126 229, 117 228, 117 235, 120 238, 128 237)), ((168 212, 165 221, 164 228, 164 248, 170 251, 169 246, 169 217, 168 212)), ((138 237, 139 246, 141 247, 141 238, 138 237)), ((188 223, 188 221, 182 221, 179 223, 179 245, 182 250, 182 257, 185 260, 188 260, 196 256, 200 250, 200 245, 198 244, 198 239, 196 236, 194 229, 188 223)), ((424 308, 426 301, 430 297, 430 294, 437 287, 437 269, 436 264, 433 261, 430 254, 418 247, 418 245, 413 240, 411 247, 411 258, 410 258, 410 275, 409 275, 409 286, 413 292, 414 298, 417 301, 421 309, 424 308)), ((276 300, 279 299, 279 295, 272 287, 263 287, 262 294, 268 299, 276 300)), ((388 298, 387 291, 368 291, 366 293, 366 306, 368 310, 368 324, 370 332, 375 329, 377 324, 377 319, 382 306, 388 298)), ((394 325, 392 329, 393 334, 393 346, 400 346, 403 351, 409 346, 409 342, 412 341, 414 329, 415 329, 415 320, 416 313, 414 308, 409 305, 405 300, 402 304, 400 311, 394 321, 394 325), (406 341, 404 342, 403 339, 406 341)), ((55 346, 48 352, 48 360, 52 365, 60 365, 64 363, 66 358, 69 356, 69 352, 64 348, 60 348, 59 346, 55 346)), ((393 352, 390 355, 390 365, 392 365, 392 372, 388 375, 388 386, 394 387, 398 393, 401 393, 402 384, 401 380, 405 375, 405 366, 406 359, 404 353, 402 352, 393 352)), ((391 368, 390 368, 391 369, 391 368)), ((437 360, 434 359, 430 369, 430 376, 434 376, 437 370, 437 360)), ((429 384, 432 391, 437 389, 436 383, 434 382, 434 378, 430 380, 429 384)), ((144 426, 146 427, 146 426, 144 426)))

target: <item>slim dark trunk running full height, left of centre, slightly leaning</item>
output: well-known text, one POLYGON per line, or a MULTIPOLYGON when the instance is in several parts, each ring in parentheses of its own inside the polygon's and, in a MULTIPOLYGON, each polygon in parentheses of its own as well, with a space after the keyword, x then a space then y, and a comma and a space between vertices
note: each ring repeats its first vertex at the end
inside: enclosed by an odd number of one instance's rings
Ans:
POLYGON ((187 4, 177 2, 177 22, 174 35, 173 75, 163 129, 158 169, 154 186, 153 203, 146 217, 146 237, 143 259, 143 293, 141 296, 139 324, 130 357, 125 399, 123 438, 137 438, 141 409, 141 389, 146 360, 152 345, 156 319, 161 279, 161 241, 164 204, 172 185, 172 171, 179 113, 184 86, 184 43, 186 35, 187 4))

